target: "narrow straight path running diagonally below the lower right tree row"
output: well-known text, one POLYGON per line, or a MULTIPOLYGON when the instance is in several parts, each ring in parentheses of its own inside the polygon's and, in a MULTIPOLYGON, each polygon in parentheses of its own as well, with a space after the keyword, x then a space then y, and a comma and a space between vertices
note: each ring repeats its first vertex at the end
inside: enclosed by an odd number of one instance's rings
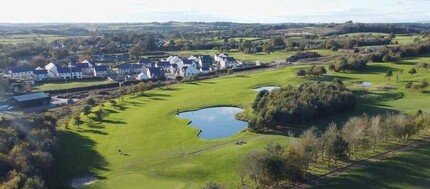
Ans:
POLYGON ((429 142, 430 142, 430 137, 419 139, 417 141, 410 142, 410 143, 407 143, 404 145, 400 145, 400 146, 393 148, 387 152, 371 156, 367 159, 357 161, 355 163, 349 164, 349 165, 344 166, 344 167, 336 168, 333 171, 326 173, 324 175, 321 175, 315 179, 309 180, 306 183, 297 184, 294 186, 294 188, 311 188, 312 186, 320 183, 321 180, 323 180, 323 179, 333 178, 333 177, 337 177, 337 176, 342 175, 342 174, 346 174, 349 171, 362 168, 362 167, 366 166, 368 163, 383 161, 385 159, 396 156, 400 152, 405 152, 405 151, 411 150, 413 148, 419 147, 420 145, 426 144, 429 142))

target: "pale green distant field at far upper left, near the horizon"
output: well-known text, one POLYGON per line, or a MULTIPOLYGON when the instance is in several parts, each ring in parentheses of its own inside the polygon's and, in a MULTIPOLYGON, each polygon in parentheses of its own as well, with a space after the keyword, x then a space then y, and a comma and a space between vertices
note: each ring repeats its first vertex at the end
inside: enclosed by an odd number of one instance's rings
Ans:
POLYGON ((57 39, 67 39, 85 36, 61 36, 61 35, 0 35, 0 44, 17 44, 17 43, 34 43, 37 41, 45 40, 48 43, 57 39))

